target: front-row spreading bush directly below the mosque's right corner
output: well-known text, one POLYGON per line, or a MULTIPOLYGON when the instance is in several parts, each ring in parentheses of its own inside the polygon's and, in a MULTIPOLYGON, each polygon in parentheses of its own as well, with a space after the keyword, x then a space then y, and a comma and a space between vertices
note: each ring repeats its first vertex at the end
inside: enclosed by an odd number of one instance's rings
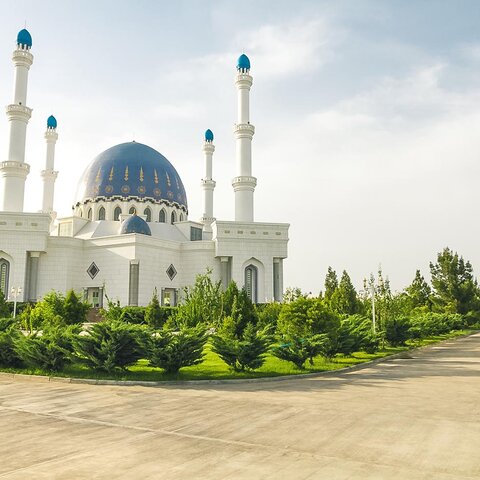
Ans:
POLYGON ((313 359, 322 352, 328 336, 319 334, 306 338, 283 337, 281 340, 282 343, 272 349, 272 354, 281 360, 292 362, 297 368, 303 370, 307 360, 310 360, 310 365, 313 365, 313 359))

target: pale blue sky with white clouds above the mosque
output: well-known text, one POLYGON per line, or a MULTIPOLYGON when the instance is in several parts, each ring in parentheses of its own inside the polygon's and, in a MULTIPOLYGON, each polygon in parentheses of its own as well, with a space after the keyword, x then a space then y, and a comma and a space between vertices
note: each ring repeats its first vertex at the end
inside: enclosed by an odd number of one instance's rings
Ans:
MULTIPOLYGON (((33 37, 25 209, 41 207, 46 119, 58 120, 58 215, 93 158, 131 140, 165 155, 202 215, 234 218, 236 60, 253 87, 255 220, 290 223, 284 286, 317 294, 332 266, 395 290, 448 246, 480 269, 478 0, 0 0, 0 104, 33 37)), ((0 157, 8 125, 0 118, 0 157)))

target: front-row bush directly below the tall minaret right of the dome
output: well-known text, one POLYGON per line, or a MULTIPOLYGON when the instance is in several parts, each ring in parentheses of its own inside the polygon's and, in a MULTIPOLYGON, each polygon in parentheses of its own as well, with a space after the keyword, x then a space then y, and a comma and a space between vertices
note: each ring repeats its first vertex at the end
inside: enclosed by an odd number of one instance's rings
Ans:
POLYGON ((270 344, 270 336, 257 331, 252 323, 246 326, 240 339, 227 334, 212 337, 212 350, 236 372, 260 368, 270 344))

